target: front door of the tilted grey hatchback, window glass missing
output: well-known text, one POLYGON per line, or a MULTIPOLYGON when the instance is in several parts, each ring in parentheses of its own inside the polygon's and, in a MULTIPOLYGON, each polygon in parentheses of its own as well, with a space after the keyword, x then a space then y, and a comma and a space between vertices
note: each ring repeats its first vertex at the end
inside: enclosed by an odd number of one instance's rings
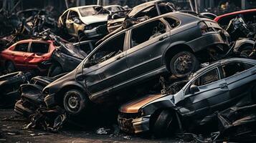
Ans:
POLYGON ((110 38, 88 56, 84 78, 87 92, 97 98, 108 94, 127 80, 125 60, 125 33, 110 38), (90 66, 87 66, 87 65, 90 66))

